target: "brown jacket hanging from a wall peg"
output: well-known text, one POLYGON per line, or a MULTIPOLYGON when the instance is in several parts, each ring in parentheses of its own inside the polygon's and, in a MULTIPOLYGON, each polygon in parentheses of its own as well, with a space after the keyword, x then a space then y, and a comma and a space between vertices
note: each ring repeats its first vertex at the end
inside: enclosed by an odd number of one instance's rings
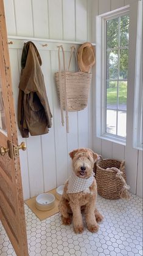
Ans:
POLYGON ((18 127, 23 138, 47 134, 52 126, 41 58, 32 42, 24 43, 18 96, 18 127))

